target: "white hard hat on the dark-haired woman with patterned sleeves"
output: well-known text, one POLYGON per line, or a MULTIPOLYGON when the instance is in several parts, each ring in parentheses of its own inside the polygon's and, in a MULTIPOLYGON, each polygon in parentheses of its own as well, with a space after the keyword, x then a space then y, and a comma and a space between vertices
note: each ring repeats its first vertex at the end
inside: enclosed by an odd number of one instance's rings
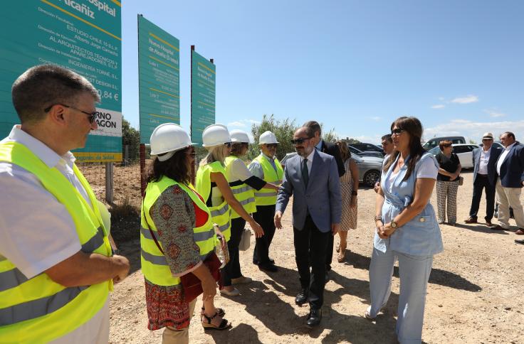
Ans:
MULTIPOLYGON (((154 128, 150 138, 151 155, 164 154, 167 152, 175 152, 180 149, 192 146, 193 143, 189 139, 187 132, 178 124, 164 123, 154 128)), ((165 161, 170 156, 159 156, 159 161, 165 161)))

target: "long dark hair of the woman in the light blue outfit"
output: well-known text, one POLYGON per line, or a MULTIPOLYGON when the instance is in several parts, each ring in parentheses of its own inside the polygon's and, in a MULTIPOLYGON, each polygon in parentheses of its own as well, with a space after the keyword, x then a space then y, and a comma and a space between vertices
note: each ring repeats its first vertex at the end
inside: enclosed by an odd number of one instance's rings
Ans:
MULTIPOLYGON (((407 131, 409 134, 409 161, 407 162, 407 173, 403 179, 404 181, 407 181, 407 178, 412 175, 415 169, 416 162, 419 161, 422 154, 426 152, 420 143, 424 129, 422 129, 422 124, 416 117, 399 117, 391 124, 391 129, 393 130, 395 126, 407 131)), ((391 156, 389 156, 389 159, 384 164, 384 172, 389 170, 389 167, 392 166, 399 154, 399 151, 394 151, 391 156)))

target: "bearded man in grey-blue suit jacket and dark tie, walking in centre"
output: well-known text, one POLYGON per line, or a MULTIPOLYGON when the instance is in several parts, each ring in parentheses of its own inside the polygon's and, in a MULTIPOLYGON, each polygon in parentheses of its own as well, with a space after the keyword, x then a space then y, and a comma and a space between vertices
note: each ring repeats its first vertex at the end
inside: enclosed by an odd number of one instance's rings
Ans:
POLYGON ((282 228, 282 214, 293 195, 293 242, 301 286, 295 303, 301 306, 309 301, 310 327, 318 326, 322 318, 327 242, 337 233, 342 216, 337 162, 315 149, 314 136, 308 127, 295 131, 298 155, 285 161, 275 211, 275 226, 282 228))

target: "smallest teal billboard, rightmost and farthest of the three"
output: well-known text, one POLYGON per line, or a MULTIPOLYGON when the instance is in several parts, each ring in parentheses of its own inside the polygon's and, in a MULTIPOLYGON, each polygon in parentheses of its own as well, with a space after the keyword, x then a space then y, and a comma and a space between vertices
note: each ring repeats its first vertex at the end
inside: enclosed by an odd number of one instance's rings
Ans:
POLYGON ((216 67, 191 50, 191 141, 202 144, 202 131, 215 123, 216 67))

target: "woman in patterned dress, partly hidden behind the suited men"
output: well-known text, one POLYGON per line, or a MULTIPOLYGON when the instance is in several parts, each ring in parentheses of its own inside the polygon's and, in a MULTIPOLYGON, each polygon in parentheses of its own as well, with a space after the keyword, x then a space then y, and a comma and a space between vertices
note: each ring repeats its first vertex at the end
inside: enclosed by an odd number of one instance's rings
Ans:
POLYGON ((339 263, 345 261, 347 246, 347 230, 357 228, 357 190, 358 190, 358 167, 351 158, 351 152, 345 141, 337 142, 346 173, 340 177, 340 189, 342 190, 342 220, 340 223, 340 243, 337 245, 339 263))

